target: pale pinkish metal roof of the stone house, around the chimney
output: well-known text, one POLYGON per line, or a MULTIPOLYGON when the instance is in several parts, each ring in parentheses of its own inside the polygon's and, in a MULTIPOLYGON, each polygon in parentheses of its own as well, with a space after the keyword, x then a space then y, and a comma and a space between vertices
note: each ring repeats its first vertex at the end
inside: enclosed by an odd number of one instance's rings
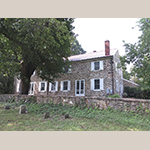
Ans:
POLYGON ((113 56, 116 52, 117 52, 117 49, 110 49, 110 55, 106 56, 105 50, 102 50, 102 51, 96 51, 96 52, 70 56, 68 59, 69 61, 80 61, 80 60, 94 59, 94 58, 99 58, 99 57, 108 57, 108 56, 113 56))

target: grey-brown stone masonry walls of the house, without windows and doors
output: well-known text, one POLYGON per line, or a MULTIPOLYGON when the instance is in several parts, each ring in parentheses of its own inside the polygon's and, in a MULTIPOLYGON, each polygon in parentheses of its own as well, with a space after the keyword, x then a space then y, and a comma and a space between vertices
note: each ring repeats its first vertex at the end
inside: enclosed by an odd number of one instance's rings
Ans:
MULTIPOLYGON (((85 96, 97 96, 97 97, 105 97, 107 95, 107 89, 112 89, 112 75, 111 75, 111 63, 110 59, 112 57, 104 57, 99 59, 91 59, 84 61, 75 61, 71 63, 71 72, 62 74, 60 78, 54 79, 54 81, 58 81, 58 91, 56 92, 48 92, 48 95, 51 96, 75 96, 75 80, 85 80, 85 96), (103 61, 103 70, 99 71, 91 71, 91 62, 94 61, 103 61), (102 78, 104 83, 104 90, 101 91, 93 91, 91 90, 91 79, 94 78, 102 78), (63 92, 60 90, 61 81, 69 80, 71 81, 70 91, 63 92)), ((113 73, 115 73, 115 66, 113 69, 113 73)), ((119 75, 114 75, 115 78, 118 78, 120 81, 119 75)), ((31 82, 35 83, 34 95, 46 95, 47 92, 39 92, 39 82, 42 80, 35 74, 31 77, 31 82)), ((115 84, 114 84, 115 85, 115 84)), ((115 88, 115 86, 114 86, 115 88)), ((115 90, 116 93, 116 90, 115 90)))

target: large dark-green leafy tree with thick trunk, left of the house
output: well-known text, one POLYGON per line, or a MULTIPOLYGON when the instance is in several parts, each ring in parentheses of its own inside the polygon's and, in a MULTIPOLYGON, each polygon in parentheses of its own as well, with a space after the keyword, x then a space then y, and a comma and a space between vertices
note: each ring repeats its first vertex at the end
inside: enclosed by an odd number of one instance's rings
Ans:
POLYGON ((0 67, 5 72, 20 74, 21 94, 28 94, 35 69, 40 78, 51 82, 63 72, 64 66, 69 66, 73 21, 72 18, 0 19, 0 57, 4 60, 0 67))

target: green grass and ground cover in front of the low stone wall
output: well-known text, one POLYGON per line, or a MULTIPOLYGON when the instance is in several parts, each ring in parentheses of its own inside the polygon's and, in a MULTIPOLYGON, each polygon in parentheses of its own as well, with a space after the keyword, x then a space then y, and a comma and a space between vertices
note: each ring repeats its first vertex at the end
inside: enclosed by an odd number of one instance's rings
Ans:
POLYGON ((26 104, 27 114, 19 114, 19 104, 0 103, 0 131, 149 131, 150 114, 119 110, 99 110, 53 104, 26 104), (50 112, 50 118, 43 114, 50 112), (65 119, 64 114, 70 118, 65 119))

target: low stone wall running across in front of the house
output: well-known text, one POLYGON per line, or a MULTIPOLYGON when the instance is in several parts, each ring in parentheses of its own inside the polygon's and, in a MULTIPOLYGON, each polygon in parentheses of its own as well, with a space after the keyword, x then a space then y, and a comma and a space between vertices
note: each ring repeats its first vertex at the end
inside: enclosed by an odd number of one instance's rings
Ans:
MULTIPOLYGON (((30 95, 17 95, 17 94, 1 94, 0 102, 6 102, 8 99, 15 99, 19 101, 21 99, 28 99, 30 95)), ((81 102, 86 103, 88 106, 97 106, 99 109, 106 109, 112 107, 114 109, 120 109, 124 111, 136 111, 138 107, 144 108, 150 111, 150 100, 145 99, 129 99, 129 98, 100 98, 100 97, 50 97, 50 96, 34 96, 38 103, 48 103, 53 101, 54 104, 79 104, 81 102)))

